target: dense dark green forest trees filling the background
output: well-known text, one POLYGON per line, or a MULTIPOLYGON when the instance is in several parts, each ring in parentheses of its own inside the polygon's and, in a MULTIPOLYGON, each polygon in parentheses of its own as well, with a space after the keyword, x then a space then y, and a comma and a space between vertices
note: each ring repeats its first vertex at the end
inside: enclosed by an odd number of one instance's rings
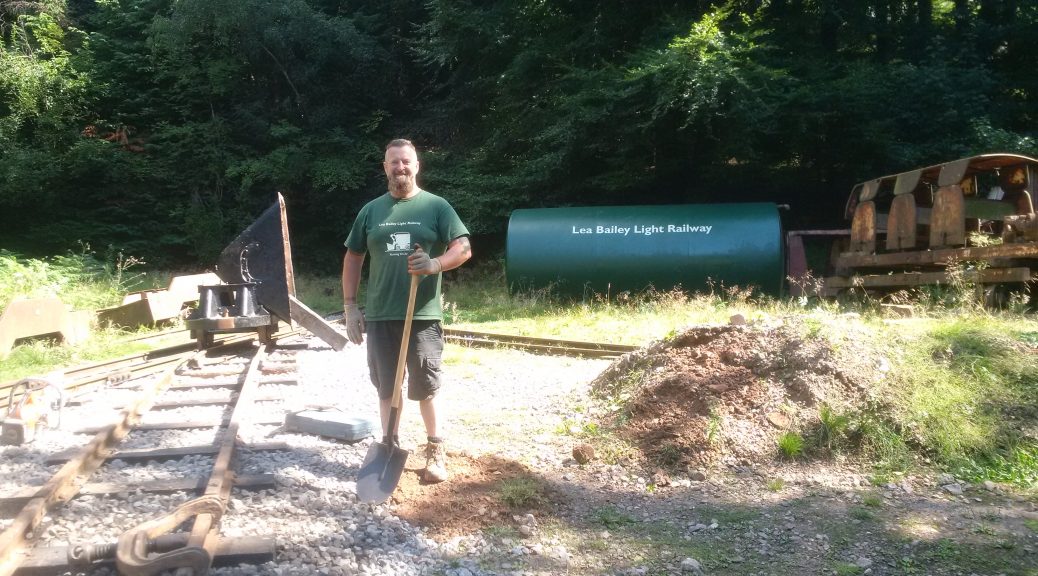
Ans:
POLYGON ((855 182, 1038 153, 1038 12, 968 5, 7 2, 0 245, 207 264, 280 192, 297 259, 331 271, 397 136, 476 234, 689 201, 836 227, 855 182))

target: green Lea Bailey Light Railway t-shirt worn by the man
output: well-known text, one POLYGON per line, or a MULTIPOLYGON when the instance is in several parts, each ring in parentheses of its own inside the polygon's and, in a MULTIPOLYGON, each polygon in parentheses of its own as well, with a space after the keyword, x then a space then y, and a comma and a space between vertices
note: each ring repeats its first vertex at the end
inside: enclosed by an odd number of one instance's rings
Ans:
MULTIPOLYGON (((346 247, 371 256, 364 318, 404 320, 411 275, 407 256, 415 243, 429 255, 442 254, 447 244, 467 236, 458 213, 443 198, 425 190, 399 200, 388 192, 364 204, 357 214, 346 247)), ((414 302, 415 320, 442 320, 440 274, 422 276, 414 302)))

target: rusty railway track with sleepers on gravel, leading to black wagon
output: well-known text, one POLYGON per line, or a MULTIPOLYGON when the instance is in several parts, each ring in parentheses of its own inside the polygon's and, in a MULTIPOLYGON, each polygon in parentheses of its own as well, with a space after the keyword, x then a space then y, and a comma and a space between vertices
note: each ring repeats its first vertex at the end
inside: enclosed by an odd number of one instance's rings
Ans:
MULTIPOLYGON (((137 363, 120 359, 106 364, 104 369, 113 365, 124 369, 130 362, 126 369, 143 372, 109 386, 104 394, 73 400, 66 406, 66 410, 79 413, 70 419, 89 419, 100 424, 75 431, 92 435, 85 446, 65 445, 77 440, 70 434, 60 435, 62 440, 59 440, 55 434, 52 442, 40 440, 33 446, 53 450, 49 455, 27 455, 24 472, 36 481, 34 484, 38 484, 48 467, 60 468, 42 486, 26 487, 0 499, 4 511, 20 506, 13 520, 4 522, 4 531, 0 533, 0 574, 63 574, 106 564, 114 564, 120 574, 129 575, 185 568, 194 574, 204 574, 214 563, 271 559, 274 541, 268 534, 227 539, 219 536, 218 528, 231 488, 256 490, 274 486, 270 477, 237 474, 236 462, 242 449, 285 448, 277 443, 241 445, 239 434, 243 427, 277 423, 281 419, 264 416, 262 404, 291 393, 284 389, 296 384, 292 375, 294 351, 282 344, 286 337, 282 335, 276 345, 257 347, 254 338, 239 336, 201 352, 162 355, 163 362, 158 364, 146 358, 136 358, 137 363), (126 445, 124 440, 131 431, 134 442, 126 445), (185 435, 192 442, 169 445, 171 439, 183 440, 185 435), (119 470, 127 465, 176 460, 204 460, 208 472, 144 483, 134 478, 111 479, 118 477, 119 470), (91 476, 110 479, 88 484, 91 476), (45 526, 52 510, 75 496, 89 495, 132 504, 134 494, 189 492, 198 496, 177 500, 174 508, 151 518, 131 512, 118 515, 125 519, 120 523, 99 518, 99 522, 112 524, 109 542, 33 547, 42 528, 55 529, 45 526), (188 531, 171 533, 185 523, 191 524, 188 531)), ((98 369, 99 366, 91 365, 77 372, 91 375, 87 379, 97 379, 98 369)), ((45 432, 44 436, 48 434, 45 432)))

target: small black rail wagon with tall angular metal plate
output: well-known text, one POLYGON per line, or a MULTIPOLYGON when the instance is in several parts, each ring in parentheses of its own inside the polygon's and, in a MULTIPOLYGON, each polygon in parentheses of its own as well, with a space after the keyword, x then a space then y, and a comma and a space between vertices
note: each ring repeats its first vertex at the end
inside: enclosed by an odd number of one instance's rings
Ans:
POLYGON ((224 283, 199 285, 198 308, 185 324, 199 348, 219 332, 258 333, 270 342, 278 322, 298 323, 334 350, 347 338, 296 298, 292 245, 284 198, 267 209, 220 253, 217 276, 224 283))

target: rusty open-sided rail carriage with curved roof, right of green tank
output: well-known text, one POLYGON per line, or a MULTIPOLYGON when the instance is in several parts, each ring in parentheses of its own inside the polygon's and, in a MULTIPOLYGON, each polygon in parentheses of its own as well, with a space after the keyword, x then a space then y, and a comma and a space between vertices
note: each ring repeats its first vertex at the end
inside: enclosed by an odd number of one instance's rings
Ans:
POLYGON ((953 267, 981 285, 1038 280, 1038 160, 986 154, 858 184, 846 242, 822 294, 947 284, 953 267), (980 264, 977 264, 980 263, 980 264))

